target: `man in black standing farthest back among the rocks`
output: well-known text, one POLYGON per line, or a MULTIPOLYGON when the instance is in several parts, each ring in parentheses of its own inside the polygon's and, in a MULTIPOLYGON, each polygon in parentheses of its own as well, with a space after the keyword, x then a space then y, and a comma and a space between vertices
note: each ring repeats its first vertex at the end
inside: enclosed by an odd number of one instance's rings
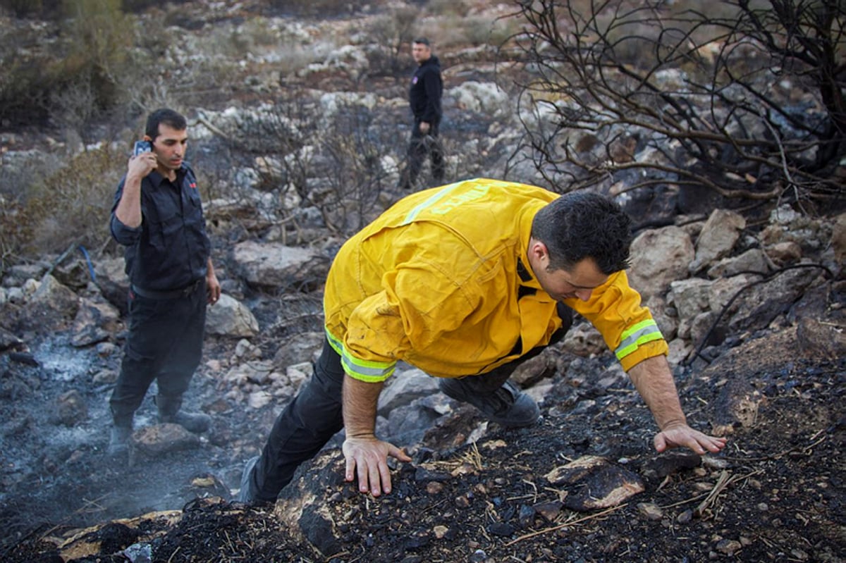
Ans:
POLYGON ((441 124, 441 62, 431 54, 431 46, 426 37, 415 39, 411 45, 411 56, 419 65, 411 78, 409 105, 415 116, 409 141, 409 163, 400 180, 402 189, 412 189, 426 156, 431 156, 431 175, 435 180, 432 185, 443 183, 443 148, 437 139, 441 124))

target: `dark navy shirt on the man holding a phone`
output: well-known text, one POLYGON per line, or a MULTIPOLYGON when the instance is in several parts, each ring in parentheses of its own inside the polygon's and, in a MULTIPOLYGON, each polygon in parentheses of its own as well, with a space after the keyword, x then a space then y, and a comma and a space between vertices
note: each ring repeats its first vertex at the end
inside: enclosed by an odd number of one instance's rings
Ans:
POLYGON ((124 176, 118 183, 110 228, 114 239, 126 247, 129 282, 169 291, 206 276, 211 243, 197 179, 190 167, 180 167, 175 182, 155 170, 141 180, 140 227, 127 227, 114 214, 125 182, 124 176))

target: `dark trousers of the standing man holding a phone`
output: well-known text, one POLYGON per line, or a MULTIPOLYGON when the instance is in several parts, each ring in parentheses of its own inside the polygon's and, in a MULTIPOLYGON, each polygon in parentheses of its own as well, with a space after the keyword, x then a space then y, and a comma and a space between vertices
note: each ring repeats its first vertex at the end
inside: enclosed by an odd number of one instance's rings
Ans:
POLYGON ((178 298, 144 298, 129 292, 129 336, 109 406, 115 424, 131 424, 147 389, 177 399, 200 364, 206 327, 206 286, 178 298))

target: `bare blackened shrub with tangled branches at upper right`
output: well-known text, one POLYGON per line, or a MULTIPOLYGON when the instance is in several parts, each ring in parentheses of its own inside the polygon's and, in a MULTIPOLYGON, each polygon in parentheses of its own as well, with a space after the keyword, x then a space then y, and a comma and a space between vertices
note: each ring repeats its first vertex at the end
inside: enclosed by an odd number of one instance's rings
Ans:
POLYGON ((836 0, 520 3, 528 158, 561 191, 687 183, 723 197, 843 195, 843 25, 836 0), (627 176, 631 182, 631 175, 627 176))

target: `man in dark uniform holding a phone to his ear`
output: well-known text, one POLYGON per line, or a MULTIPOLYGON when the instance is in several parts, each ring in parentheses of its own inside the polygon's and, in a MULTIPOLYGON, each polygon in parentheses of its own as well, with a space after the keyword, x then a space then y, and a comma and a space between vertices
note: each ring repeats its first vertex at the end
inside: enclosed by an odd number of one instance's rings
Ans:
POLYGON ((131 283, 129 336, 109 401, 113 455, 127 451, 132 418, 153 380, 162 422, 191 432, 204 432, 211 422, 206 414, 180 410, 202 356, 206 303, 220 298, 197 180, 183 161, 185 118, 166 108, 152 112, 145 140, 151 150, 129 159, 110 223, 126 247, 131 283))

